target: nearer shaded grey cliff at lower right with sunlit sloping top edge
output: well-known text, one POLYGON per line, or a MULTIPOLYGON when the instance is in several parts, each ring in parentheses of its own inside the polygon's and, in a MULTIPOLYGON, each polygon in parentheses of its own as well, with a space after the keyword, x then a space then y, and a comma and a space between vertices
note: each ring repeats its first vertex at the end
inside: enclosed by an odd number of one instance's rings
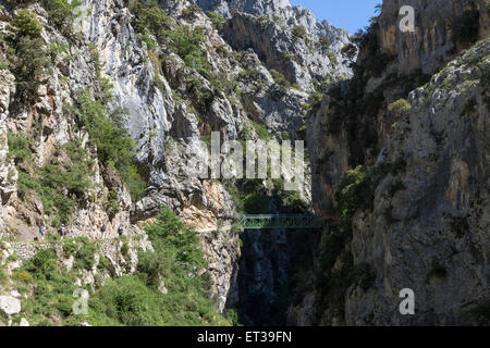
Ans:
POLYGON ((489 54, 487 40, 411 92, 378 160, 406 166, 381 181, 372 212, 354 217, 354 263, 378 276, 367 291, 350 289, 348 324, 478 323, 473 311, 490 298, 489 54), (402 288, 416 294, 411 319, 391 304, 402 288))

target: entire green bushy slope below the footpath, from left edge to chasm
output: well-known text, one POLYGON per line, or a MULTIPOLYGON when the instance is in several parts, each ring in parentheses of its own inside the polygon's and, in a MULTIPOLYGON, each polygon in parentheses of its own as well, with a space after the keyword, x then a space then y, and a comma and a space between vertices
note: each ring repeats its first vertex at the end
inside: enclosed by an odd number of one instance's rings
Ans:
MULTIPOLYGON (((155 224, 146 226, 155 252, 139 252, 138 270, 133 275, 109 278, 110 264, 101 257, 97 265, 95 287, 86 286, 90 298, 88 315, 75 315, 77 300, 74 290, 83 270, 91 270, 99 248, 87 238, 66 240, 64 257, 74 257, 74 266, 66 271, 59 262, 54 248, 39 249, 36 256, 14 272, 14 282, 21 294, 32 295, 23 300, 19 318, 32 325, 230 325, 209 300, 209 274, 201 275, 207 262, 199 248, 197 233, 185 227, 168 208, 163 208, 155 224), (159 290, 161 282, 167 294, 159 290), (30 289, 30 290, 29 290, 30 289)), ((122 254, 128 254, 124 244, 122 254)), ((0 273, 0 282, 9 282, 0 273)), ((82 286, 84 288, 84 286, 82 286)), ((233 311, 232 311, 233 312, 233 311)), ((236 315, 235 315, 236 316, 236 315)), ((236 318, 235 318, 236 319, 236 318)))

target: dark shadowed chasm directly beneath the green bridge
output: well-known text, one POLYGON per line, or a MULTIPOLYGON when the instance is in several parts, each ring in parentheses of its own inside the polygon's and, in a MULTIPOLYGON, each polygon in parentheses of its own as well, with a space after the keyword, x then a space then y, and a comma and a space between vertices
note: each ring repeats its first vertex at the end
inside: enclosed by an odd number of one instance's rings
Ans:
POLYGON ((318 233, 245 231, 238 265, 238 321, 245 326, 287 325, 287 309, 305 294, 318 233))

